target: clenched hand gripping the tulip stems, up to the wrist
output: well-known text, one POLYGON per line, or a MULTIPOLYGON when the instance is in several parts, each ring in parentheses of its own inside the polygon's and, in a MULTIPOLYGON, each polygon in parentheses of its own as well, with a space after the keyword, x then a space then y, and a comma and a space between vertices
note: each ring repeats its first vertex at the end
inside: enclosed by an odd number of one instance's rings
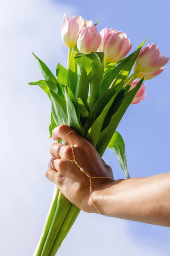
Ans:
MULTIPOLYGON (((70 132, 72 129, 67 125, 56 127, 52 131, 53 140, 62 138, 72 146, 76 162, 83 168, 84 172, 90 176, 104 176, 110 179, 92 179, 92 190, 101 190, 106 183, 112 182, 113 174, 109 165, 101 159, 93 145, 85 138, 79 136, 76 132, 70 132)), ((46 171, 46 177, 55 183, 66 198, 74 203, 81 210, 86 212, 98 212, 91 200, 89 178, 73 160, 71 146, 64 145, 57 149, 60 143, 54 143, 50 147, 52 157, 51 167, 46 171), (64 158, 64 159, 63 159, 64 158)))

